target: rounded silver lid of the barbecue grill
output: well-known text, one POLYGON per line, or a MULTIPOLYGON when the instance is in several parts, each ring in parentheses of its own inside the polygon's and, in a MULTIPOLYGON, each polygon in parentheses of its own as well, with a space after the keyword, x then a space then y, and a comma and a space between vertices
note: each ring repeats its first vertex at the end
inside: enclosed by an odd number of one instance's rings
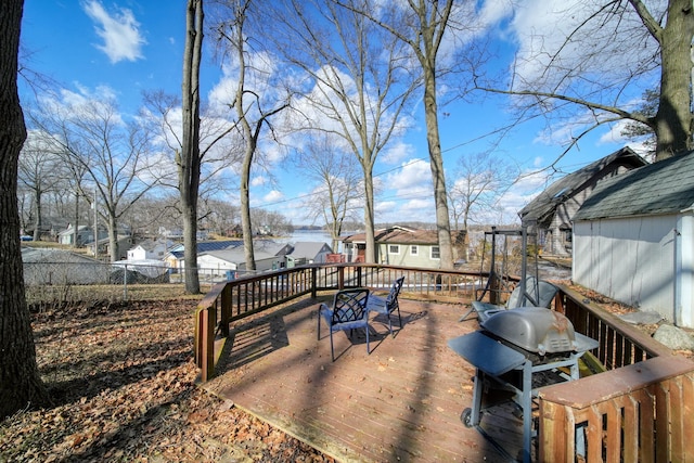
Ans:
POLYGON ((494 313, 480 326, 525 350, 545 353, 577 350, 574 325, 562 313, 543 307, 518 307, 494 313))

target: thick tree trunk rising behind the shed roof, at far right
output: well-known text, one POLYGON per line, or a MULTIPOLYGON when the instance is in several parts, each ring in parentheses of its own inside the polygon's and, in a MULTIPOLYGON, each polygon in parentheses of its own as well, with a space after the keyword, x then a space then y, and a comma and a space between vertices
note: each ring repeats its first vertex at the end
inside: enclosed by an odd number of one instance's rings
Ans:
POLYGON ((692 143, 692 0, 670 0, 660 36, 660 102, 655 116, 656 160, 694 147, 692 143))

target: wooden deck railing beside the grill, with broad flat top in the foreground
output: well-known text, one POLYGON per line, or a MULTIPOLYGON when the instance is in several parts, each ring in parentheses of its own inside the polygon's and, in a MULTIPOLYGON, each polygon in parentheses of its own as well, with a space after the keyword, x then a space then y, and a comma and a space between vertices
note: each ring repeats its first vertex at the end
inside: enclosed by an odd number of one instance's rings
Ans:
POLYGON ((694 461, 694 362, 569 288, 556 309, 608 371, 540 389, 539 461, 694 461))

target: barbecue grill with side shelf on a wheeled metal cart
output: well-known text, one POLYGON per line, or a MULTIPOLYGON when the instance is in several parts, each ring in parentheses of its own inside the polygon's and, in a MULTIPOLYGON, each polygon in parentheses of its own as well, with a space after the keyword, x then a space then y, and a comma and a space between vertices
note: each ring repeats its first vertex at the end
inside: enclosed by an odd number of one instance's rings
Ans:
POLYGON ((479 422, 485 389, 512 393, 512 400, 523 411, 523 461, 529 462, 532 437, 537 436, 532 430, 532 398, 538 388, 578 380, 578 359, 596 348, 597 342, 576 333, 562 313, 541 307, 502 310, 480 327, 448 342, 455 353, 476 368, 473 403, 461 420, 483 432, 479 422), (561 368, 568 368, 569 373, 561 368))

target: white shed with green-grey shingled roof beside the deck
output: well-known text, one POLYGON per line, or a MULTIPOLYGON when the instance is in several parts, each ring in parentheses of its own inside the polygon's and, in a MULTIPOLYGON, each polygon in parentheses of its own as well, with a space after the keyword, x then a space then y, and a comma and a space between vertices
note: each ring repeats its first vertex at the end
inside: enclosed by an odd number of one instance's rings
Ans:
POLYGON ((693 153, 594 190, 574 217, 576 283, 694 327, 693 153))

